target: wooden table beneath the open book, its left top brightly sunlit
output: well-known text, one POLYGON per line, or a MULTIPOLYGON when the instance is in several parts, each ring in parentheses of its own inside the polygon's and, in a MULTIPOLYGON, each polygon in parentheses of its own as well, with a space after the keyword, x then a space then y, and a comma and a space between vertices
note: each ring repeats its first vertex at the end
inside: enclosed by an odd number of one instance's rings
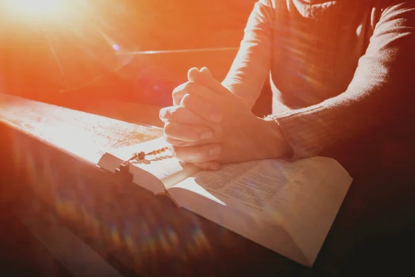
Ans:
MULTIPOLYGON (((160 125, 158 107, 139 108, 139 118, 135 107, 121 103, 88 109, 160 125)), ((3 198, 73 276, 349 276, 409 269, 403 249, 414 249, 414 183, 403 172, 354 177, 308 269, 94 166, 105 150, 158 137, 160 127, 6 95, 0 95, 0 118, 8 177, 3 198)))

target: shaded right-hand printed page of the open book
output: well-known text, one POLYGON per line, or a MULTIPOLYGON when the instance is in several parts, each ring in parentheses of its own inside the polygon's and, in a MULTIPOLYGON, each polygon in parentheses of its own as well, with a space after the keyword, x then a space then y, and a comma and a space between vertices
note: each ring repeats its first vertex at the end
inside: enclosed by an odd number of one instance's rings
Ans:
POLYGON ((350 184, 351 177, 337 161, 312 157, 225 165, 218 172, 196 173, 171 190, 182 188, 278 222, 312 264, 350 184))

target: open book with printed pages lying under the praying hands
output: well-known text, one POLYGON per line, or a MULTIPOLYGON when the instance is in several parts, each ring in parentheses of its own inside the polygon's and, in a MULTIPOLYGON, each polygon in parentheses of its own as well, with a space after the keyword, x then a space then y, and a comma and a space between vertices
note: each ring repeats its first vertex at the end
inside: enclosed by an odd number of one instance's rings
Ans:
MULTIPOLYGON (((98 166, 115 172, 133 152, 163 148, 163 138, 105 153, 98 166)), ((155 195, 302 265, 311 267, 351 184, 340 164, 326 157, 223 165, 201 171, 171 152, 132 161, 133 182, 155 195)))

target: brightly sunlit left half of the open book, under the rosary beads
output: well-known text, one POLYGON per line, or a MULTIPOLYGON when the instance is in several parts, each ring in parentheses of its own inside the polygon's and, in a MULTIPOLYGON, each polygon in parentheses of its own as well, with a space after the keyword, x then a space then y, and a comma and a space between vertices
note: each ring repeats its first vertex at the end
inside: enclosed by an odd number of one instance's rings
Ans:
MULTIPOLYGON (((134 152, 151 152, 153 150, 158 150, 167 146, 163 137, 147 141, 145 143, 140 143, 136 145, 127 146, 125 148, 119 148, 109 152, 113 157, 117 159, 111 159, 105 163, 104 168, 112 172, 115 171, 122 161, 130 159, 134 152), (107 168, 111 167, 111 169, 107 168)), ((102 166, 102 163, 98 163, 98 166, 102 166)), ((177 184, 179 181, 183 181, 188 176, 193 175, 198 172, 199 169, 195 166, 192 166, 187 163, 180 161, 169 150, 156 154, 148 155, 142 161, 131 161, 130 162, 130 172, 133 174, 133 182, 144 186, 147 189, 153 191, 154 193, 162 193, 165 189, 177 184), (148 188, 148 186, 154 186, 154 181, 142 173, 142 170, 148 172, 149 174, 156 177, 163 184, 163 188, 148 188)))

